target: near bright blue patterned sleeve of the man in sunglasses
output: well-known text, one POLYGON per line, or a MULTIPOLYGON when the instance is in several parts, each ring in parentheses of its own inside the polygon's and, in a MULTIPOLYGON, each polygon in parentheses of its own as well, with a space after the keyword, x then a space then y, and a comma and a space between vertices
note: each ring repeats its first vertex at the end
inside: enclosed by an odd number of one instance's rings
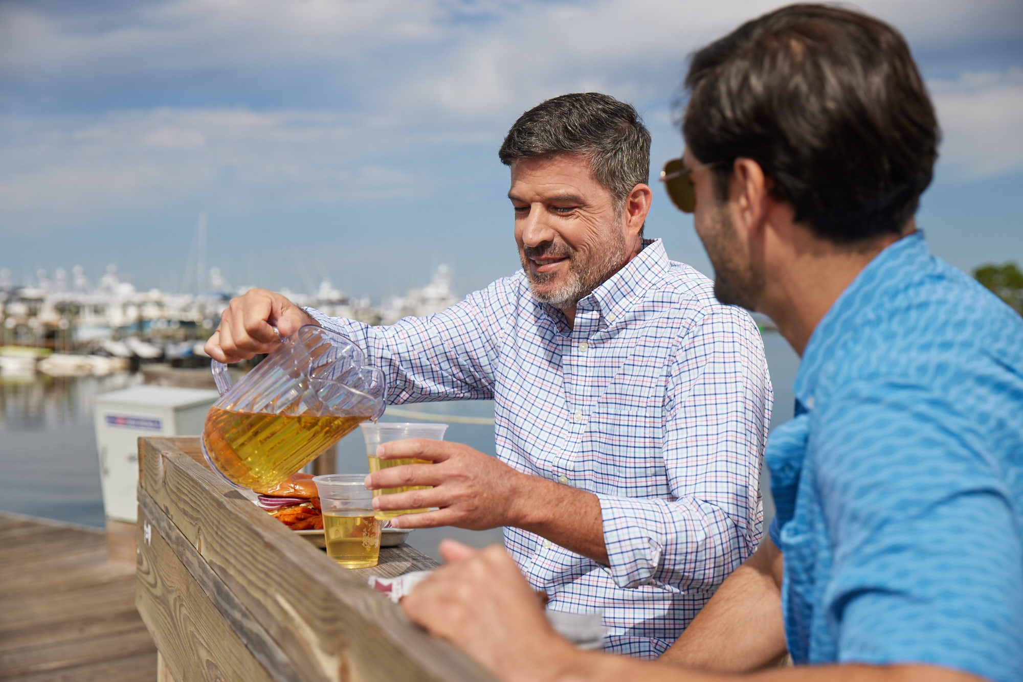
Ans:
POLYGON ((1021 679, 1023 546, 976 422, 930 389, 876 383, 817 418, 835 658, 1021 679))

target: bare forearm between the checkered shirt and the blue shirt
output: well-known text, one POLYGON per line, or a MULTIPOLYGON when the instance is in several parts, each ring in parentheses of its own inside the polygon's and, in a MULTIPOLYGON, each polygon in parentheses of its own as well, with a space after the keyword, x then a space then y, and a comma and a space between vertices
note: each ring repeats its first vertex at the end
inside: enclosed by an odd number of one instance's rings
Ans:
POLYGON ((747 672, 785 654, 782 553, 769 538, 739 566, 660 661, 716 672, 747 672))

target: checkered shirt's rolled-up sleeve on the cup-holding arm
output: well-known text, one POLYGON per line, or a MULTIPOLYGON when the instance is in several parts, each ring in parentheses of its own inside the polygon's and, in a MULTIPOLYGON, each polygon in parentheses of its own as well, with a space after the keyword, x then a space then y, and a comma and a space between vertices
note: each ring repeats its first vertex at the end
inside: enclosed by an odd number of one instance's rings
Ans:
POLYGON ((662 456, 674 499, 597 495, 619 587, 711 592, 762 535, 760 464, 773 395, 759 331, 738 309, 686 335, 667 393, 662 456))

